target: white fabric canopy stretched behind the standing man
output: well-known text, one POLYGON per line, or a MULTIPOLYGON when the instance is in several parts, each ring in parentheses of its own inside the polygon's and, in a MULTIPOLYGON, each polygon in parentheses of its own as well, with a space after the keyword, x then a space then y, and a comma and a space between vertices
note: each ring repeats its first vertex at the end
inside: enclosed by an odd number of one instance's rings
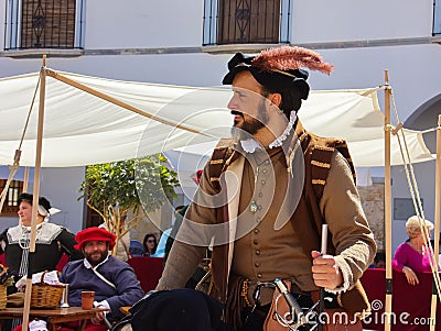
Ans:
MULTIPOLYGON (((2 165, 12 163, 20 145, 39 74, 0 79, 2 165)), ((47 75, 72 79, 139 112, 47 77, 42 167, 128 159, 214 142, 229 134, 232 115, 226 109, 229 89, 117 81, 52 70, 47 75)), ((308 130, 345 139, 355 166, 381 166, 384 117, 378 106, 378 90, 312 91, 299 115, 308 130)), ((35 162, 36 122, 34 109, 21 148, 24 166, 33 166, 35 162)), ((420 132, 406 130, 406 137, 412 162, 433 159, 420 132)), ((185 150, 192 153, 192 148, 185 150)), ((399 146, 392 140, 391 164, 400 163, 399 146)))

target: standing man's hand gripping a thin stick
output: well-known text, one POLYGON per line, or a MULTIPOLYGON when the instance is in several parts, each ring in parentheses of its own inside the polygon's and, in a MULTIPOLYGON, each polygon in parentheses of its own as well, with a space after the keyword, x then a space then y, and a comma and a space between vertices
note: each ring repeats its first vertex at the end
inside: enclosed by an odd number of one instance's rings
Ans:
POLYGON ((312 277, 316 286, 334 289, 343 285, 343 276, 335 265, 334 256, 322 256, 318 251, 312 251, 311 255, 313 258, 312 277))

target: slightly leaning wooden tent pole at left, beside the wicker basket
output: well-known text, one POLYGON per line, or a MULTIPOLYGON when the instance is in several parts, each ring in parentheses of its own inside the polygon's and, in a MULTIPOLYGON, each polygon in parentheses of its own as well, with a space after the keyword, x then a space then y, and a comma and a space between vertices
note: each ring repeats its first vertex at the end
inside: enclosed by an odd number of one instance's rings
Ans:
POLYGON ((32 291, 31 266, 33 263, 33 255, 35 253, 35 232, 36 232, 36 219, 37 219, 37 207, 39 207, 39 196, 40 196, 40 169, 41 169, 41 158, 42 158, 41 154, 43 145, 44 98, 46 90, 46 55, 43 55, 42 68, 40 71, 40 84, 41 85, 40 85, 39 124, 36 131, 36 153, 35 153, 34 187, 33 187, 33 200, 32 200, 31 240, 29 243, 26 289, 24 295, 24 308, 23 308, 23 324, 22 324, 23 331, 28 331, 29 311, 31 307, 31 291, 32 291))

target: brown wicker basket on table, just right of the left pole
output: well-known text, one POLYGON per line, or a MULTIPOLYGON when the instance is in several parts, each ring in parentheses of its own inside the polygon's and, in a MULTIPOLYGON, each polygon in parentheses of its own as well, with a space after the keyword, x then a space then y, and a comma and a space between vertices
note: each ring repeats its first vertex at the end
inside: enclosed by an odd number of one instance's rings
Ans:
POLYGON ((31 308, 55 308, 62 300, 64 285, 49 285, 43 282, 42 274, 40 283, 32 284, 31 308))

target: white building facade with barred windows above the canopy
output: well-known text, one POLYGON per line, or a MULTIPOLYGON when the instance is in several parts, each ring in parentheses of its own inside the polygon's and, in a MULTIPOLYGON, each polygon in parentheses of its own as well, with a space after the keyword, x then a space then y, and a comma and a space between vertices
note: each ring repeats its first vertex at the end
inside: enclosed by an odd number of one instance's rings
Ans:
MULTIPOLYGON (((235 52, 256 53, 276 44, 313 48, 335 65, 330 77, 311 73, 313 89, 380 86, 387 69, 405 126, 437 125, 441 0, 0 2, 0 78, 37 71, 47 54, 47 67, 61 71, 217 86, 235 52)), ((434 134, 427 139, 433 152, 434 134)), ((426 217, 433 219, 434 163, 417 169, 426 217)), ((392 196, 406 205, 410 195, 400 173, 394 168, 392 196)), ((42 175, 42 195, 63 205, 65 214, 57 221, 74 232, 84 225, 84 206, 76 200, 82 176, 82 168, 43 169, 42 175)), ((406 239, 402 214, 392 216, 394 247, 406 239)))

